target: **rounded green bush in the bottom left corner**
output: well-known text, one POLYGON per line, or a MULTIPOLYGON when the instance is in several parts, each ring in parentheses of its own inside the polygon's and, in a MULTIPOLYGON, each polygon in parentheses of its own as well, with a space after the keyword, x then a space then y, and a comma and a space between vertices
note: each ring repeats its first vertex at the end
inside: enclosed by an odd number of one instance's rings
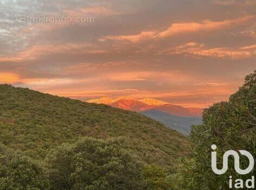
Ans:
POLYGON ((0 189, 48 189, 48 182, 34 161, 0 146, 0 189))

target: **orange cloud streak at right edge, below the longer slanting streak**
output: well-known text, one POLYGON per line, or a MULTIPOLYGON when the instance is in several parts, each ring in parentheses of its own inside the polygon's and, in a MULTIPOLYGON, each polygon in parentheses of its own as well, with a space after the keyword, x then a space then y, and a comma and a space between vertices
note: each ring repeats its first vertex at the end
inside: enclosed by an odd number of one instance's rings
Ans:
POLYGON ((187 43, 176 48, 161 51, 160 53, 169 55, 194 56, 195 58, 213 57, 227 59, 245 59, 256 56, 256 45, 234 48, 212 48, 204 49, 204 44, 187 43))

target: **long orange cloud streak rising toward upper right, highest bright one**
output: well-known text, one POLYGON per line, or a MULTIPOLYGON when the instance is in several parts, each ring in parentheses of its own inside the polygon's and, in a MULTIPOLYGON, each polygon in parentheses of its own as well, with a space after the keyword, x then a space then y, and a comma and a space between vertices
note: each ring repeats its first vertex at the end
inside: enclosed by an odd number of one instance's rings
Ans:
POLYGON ((104 41, 105 39, 114 40, 127 40, 132 43, 138 43, 143 40, 171 37, 183 33, 199 32, 199 31, 212 31, 219 30, 222 28, 228 28, 235 25, 243 24, 254 18, 254 16, 246 16, 236 19, 227 19, 224 21, 209 21, 204 20, 202 22, 182 22, 173 23, 167 30, 161 32, 155 31, 142 31, 138 35, 120 35, 120 36, 105 36, 99 40, 104 41))

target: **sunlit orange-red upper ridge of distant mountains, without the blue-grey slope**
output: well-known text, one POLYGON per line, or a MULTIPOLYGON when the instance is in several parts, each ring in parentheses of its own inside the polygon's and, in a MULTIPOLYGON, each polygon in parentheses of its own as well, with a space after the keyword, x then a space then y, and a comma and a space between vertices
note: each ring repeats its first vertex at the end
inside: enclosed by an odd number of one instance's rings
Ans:
POLYGON ((108 97, 103 97, 99 99, 88 100, 88 103, 96 104, 107 104, 112 107, 122 108, 124 110, 142 112, 146 110, 158 110, 164 113, 171 114, 178 117, 201 117, 202 108, 185 108, 178 105, 172 105, 165 101, 144 98, 136 100, 129 97, 120 97, 117 99, 111 99, 108 97))

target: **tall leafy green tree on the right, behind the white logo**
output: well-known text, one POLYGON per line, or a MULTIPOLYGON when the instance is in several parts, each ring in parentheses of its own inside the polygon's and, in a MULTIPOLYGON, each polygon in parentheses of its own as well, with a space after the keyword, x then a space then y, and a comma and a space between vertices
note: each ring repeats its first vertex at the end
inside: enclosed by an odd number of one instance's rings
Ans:
MULTIPOLYGON (((239 175, 234 170, 234 159, 229 158, 229 169, 216 175, 211 168, 211 145, 217 145, 217 157, 222 167, 222 155, 228 150, 246 150, 256 158, 256 71, 245 78, 245 84, 229 101, 214 104, 203 113, 202 125, 191 132, 194 158, 185 164, 189 175, 184 189, 229 189, 229 175, 233 179, 249 179, 255 171, 239 175)), ((240 167, 246 168, 248 159, 240 157, 240 167)), ((185 173, 185 172, 184 172, 185 173)))

